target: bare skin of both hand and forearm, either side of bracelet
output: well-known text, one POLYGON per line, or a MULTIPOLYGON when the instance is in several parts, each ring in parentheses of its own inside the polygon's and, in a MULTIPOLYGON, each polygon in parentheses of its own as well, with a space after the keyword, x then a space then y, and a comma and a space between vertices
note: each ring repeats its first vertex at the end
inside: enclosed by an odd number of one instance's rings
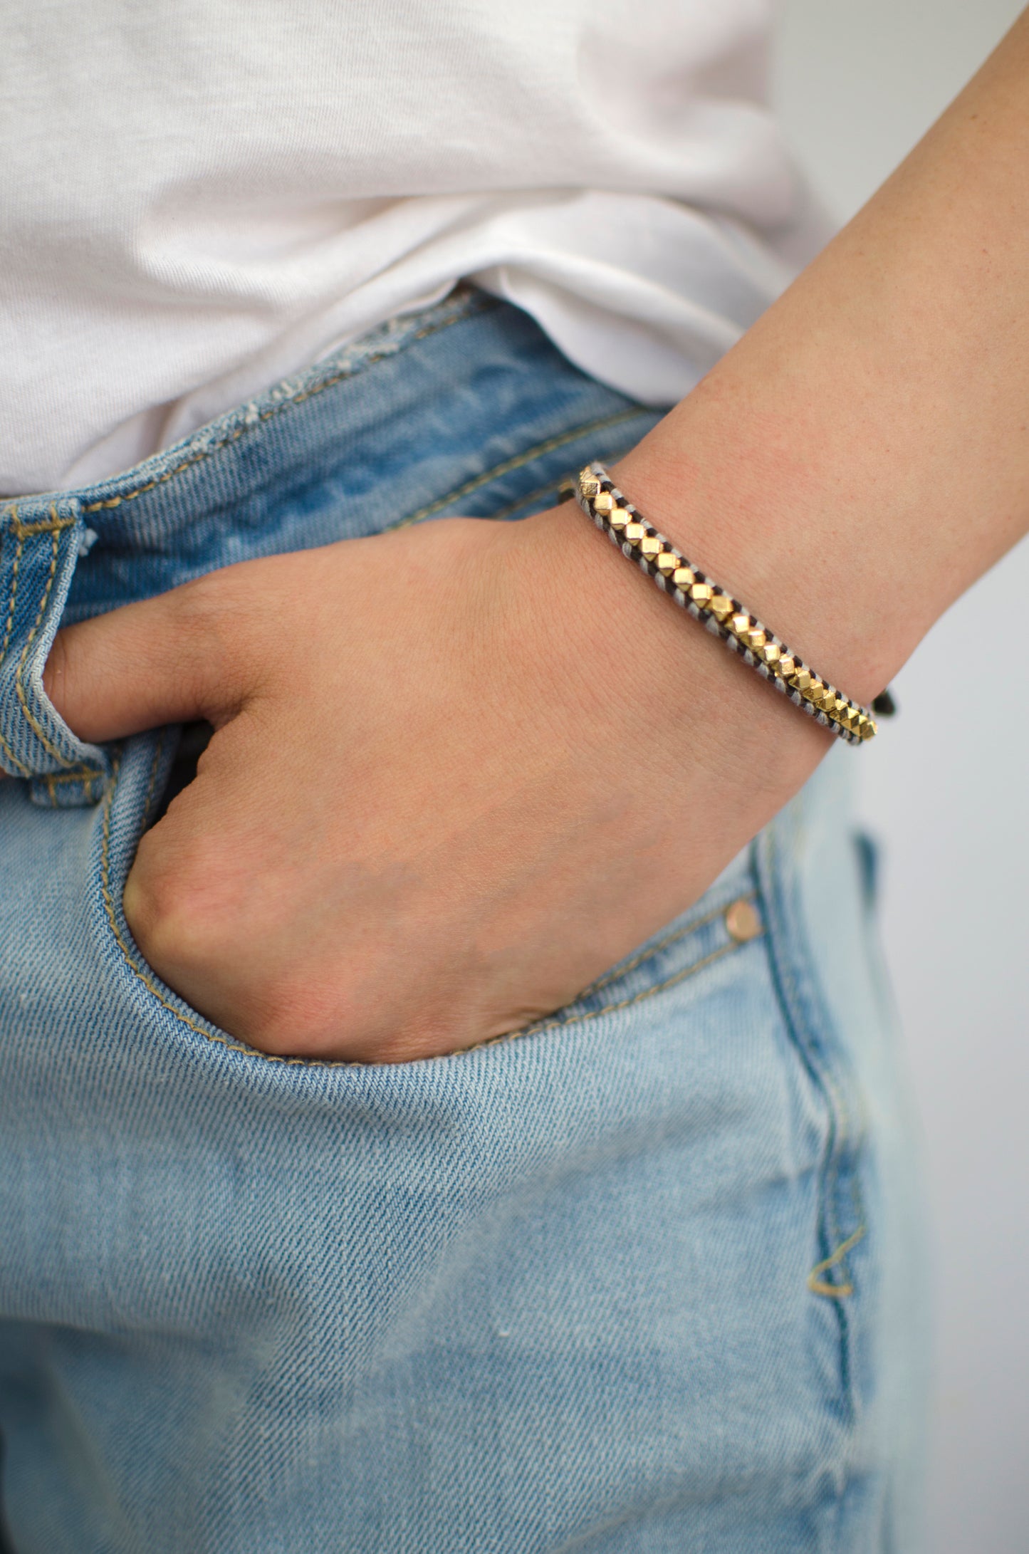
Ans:
MULTIPOLYGON (((861 701, 1029 527, 1027 166, 1029 14, 614 471, 861 701)), ((572 505, 227 567, 59 632, 45 679, 85 740, 216 727, 129 875, 151 965, 255 1047, 365 1061, 567 1002, 833 743, 572 505)))

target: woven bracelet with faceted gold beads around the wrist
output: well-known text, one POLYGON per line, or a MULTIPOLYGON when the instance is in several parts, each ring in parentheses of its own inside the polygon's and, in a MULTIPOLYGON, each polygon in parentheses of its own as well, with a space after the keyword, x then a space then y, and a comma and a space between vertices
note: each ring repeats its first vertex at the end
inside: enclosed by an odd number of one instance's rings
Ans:
MULTIPOLYGON (((670 594, 682 609, 689 609, 715 637, 721 637, 745 664, 788 696, 794 707, 801 707, 849 744, 861 744, 874 737, 875 718, 870 709, 850 701, 808 668, 799 654, 791 653, 785 642, 762 626, 738 600, 687 561, 653 524, 640 517, 603 465, 594 463, 583 469, 577 499, 586 516, 592 517, 597 528, 603 528, 623 556, 636 561, 659 589, 670 594)), ((874 706, 881 713, 894 710, 888 692, 877 696, 874 706)))

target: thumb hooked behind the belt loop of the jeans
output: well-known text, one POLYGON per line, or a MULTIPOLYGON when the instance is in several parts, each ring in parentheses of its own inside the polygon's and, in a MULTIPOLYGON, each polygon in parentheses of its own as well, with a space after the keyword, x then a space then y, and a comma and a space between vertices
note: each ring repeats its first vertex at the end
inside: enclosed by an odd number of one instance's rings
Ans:
POLYGON ((165 723, 222 724, 239 710, 216 578, 58 632, 44 690, 73 733, 96 744, 165 723))

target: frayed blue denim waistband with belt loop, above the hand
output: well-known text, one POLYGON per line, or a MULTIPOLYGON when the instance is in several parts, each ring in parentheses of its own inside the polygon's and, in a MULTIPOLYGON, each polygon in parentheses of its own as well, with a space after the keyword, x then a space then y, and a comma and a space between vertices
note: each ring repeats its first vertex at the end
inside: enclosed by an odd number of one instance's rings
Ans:
POLYGON ((58 626, 258 555, 441 513, 519 517, 658 418, 473 286, 375 329, 134 469, 0 507, 0 765, 96 802, 110 752, 58 716, 58 626))

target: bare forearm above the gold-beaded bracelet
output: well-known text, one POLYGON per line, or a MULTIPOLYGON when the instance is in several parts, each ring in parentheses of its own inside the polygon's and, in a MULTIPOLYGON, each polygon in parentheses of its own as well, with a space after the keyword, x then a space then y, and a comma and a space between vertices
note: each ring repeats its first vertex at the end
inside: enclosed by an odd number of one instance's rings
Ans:
POLYGON ((1029 522, 1027 238, 1029 14, 619 465, 658 527, 858 699, 1029 522))

